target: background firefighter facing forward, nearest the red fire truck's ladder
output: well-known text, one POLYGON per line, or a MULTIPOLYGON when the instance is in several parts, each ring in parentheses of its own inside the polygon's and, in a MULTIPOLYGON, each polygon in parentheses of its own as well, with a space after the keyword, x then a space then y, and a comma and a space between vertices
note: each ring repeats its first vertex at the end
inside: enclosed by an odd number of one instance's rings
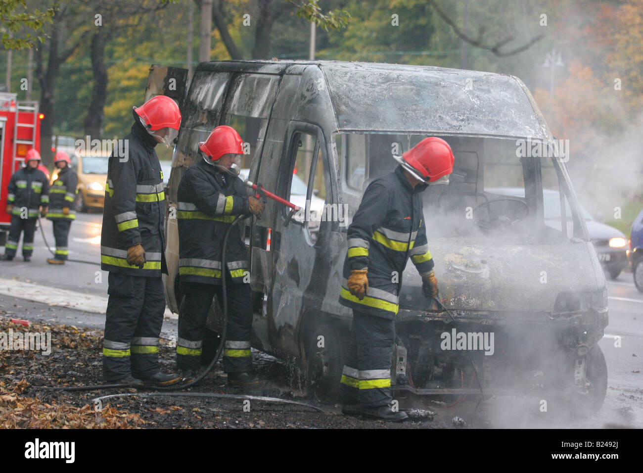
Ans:
POLYGON ((33 233, 35 232, 38 212, 44 217, 49 204, 49 182, 47 176, 38 169, 40 153, 30 149, 24 156, 25 167, 15 171, 9 181, 6 212, 11 214, 11 227, 6 240, 3 261, 12 261, 18 250, 21 232, 23 236, 23 259, 31 261, 33 253, 33 233))

